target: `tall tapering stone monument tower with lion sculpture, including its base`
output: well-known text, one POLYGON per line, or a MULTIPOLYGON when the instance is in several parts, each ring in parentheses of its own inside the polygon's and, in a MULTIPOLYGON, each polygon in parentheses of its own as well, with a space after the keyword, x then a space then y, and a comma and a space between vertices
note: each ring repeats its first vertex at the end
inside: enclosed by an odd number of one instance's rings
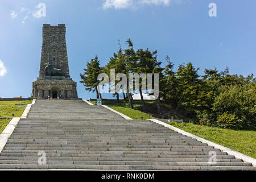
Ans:
POLYGON ((43 44, 39 77, 32 84, 32 98, 48 96, 77 100, 76 82, 69 76, 65 24, 43 24, 43 44))

